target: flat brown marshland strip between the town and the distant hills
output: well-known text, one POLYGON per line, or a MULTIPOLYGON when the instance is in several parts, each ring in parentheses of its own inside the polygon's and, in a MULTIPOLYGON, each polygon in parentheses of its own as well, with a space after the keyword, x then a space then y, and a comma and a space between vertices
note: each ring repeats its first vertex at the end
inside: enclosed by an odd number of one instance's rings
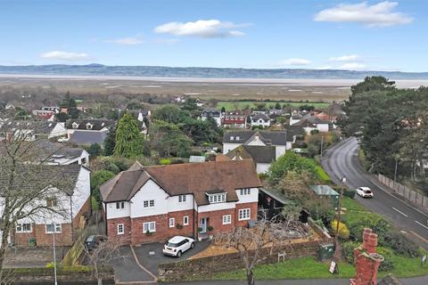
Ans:
MULTIPOLYGON (((218 101, 272 100, 292 102, 332 102, 348 99, 349 80, 298 79, 213 79, 213 78, 131 78, 131 77, 49 77, 0 75, 0 88, 37 88, 70 94, 158 95, 188 94, 218 101)), ((87 98, 87 97, 86 97, 87 98)))

